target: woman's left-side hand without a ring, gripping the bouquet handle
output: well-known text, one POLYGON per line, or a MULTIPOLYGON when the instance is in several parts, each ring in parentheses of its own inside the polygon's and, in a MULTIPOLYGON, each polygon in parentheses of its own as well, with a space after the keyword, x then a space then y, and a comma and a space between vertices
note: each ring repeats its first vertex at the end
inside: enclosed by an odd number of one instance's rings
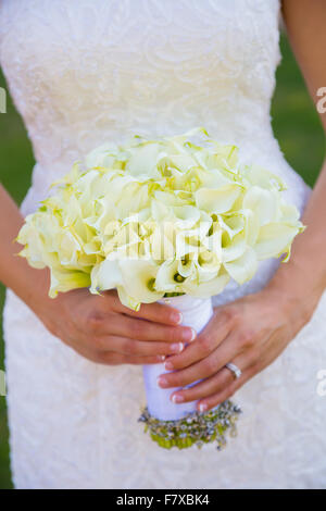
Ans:
POLYGON ((181 321, 177 310, 151 303, 135 312, 121 304, 116 291, 59 294, 36 312, 63 342, 87 359, 109 365, 162 362, 193 336, 192 328, 177 326, 181 321))

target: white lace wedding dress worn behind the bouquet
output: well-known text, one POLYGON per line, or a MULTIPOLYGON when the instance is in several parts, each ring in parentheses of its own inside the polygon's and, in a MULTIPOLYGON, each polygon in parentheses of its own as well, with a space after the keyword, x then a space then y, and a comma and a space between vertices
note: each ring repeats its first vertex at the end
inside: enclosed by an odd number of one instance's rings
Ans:
MULTIPOLYGON (((0 61, 37 164, 22 212, 105 140, 203 125, 287 182, 310 189, 274 139, 278 0, 0 0, 0 61)), ((230 284, 220 304, 262 288, 277 263, 230 284)), ((141 367, 101 366, 53 337, 8 290, 11 461, 18 488, 326 487, 326 296, 288 349, 235 396, 226 450, 165 451, 137 423, 141 367)))

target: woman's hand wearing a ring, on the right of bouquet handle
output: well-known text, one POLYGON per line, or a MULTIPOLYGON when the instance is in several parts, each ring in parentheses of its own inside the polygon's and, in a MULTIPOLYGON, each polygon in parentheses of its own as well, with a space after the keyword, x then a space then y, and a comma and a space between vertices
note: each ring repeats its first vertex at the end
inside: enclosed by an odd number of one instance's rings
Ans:
POLYGON ((275 290, 248 295, 214 309, 214 315, 197 339, 180 354, 168 357, 166 371, 159 377, 163 388, 191 388, 172 394, 176 402, 199 400, 200 412, 230 398, 248 379, 269 365, 310 320, 313 308, 275 290), (242 372, 235 379, 225 364, 242 372))

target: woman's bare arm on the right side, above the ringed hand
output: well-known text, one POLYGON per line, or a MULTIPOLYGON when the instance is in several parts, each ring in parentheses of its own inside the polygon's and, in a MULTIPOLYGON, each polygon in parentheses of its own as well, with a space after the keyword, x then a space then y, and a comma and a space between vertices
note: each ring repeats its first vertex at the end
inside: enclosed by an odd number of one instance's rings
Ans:
MULTIPOLYGON (((321 99, 316 95, 318 88, 326 86, 326 2, 284 0, 283 12, 293 51, 316 103, 321 99)), ((319 115, 326 130, 326 113, 319 115)), ((303 214, 308 228, 294 240, 290 261, 280 266, 271 282, 271 288, 290 290, 293 300, 306 300, 309 312, 326 287, 325 222, 326 163, 303 214)))

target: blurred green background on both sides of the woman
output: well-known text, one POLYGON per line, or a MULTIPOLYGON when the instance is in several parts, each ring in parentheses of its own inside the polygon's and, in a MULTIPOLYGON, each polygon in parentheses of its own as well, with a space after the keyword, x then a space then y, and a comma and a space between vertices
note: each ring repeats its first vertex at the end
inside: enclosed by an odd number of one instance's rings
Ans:
MULTIPOLYGON (((324 132, 285 35, 281 35, 280 47, 283 62, 277 70, 272 104, 273 128, 290 165, 313 186, 324 159, 324 132)), ((0 86, 7 88, 1 72, 0 86)), ((30 184, 34 158, 22 120, 10 98, 8 113, 0 114, 0 179, 21 203, 30 184)), ((0 285, 0 310, 3 300, 4 288, 0 285)), ((0 369, 3 367, 0 331, 0 369)), ((11 487, 5 398, 0 397, 0 488, 11 487)))

